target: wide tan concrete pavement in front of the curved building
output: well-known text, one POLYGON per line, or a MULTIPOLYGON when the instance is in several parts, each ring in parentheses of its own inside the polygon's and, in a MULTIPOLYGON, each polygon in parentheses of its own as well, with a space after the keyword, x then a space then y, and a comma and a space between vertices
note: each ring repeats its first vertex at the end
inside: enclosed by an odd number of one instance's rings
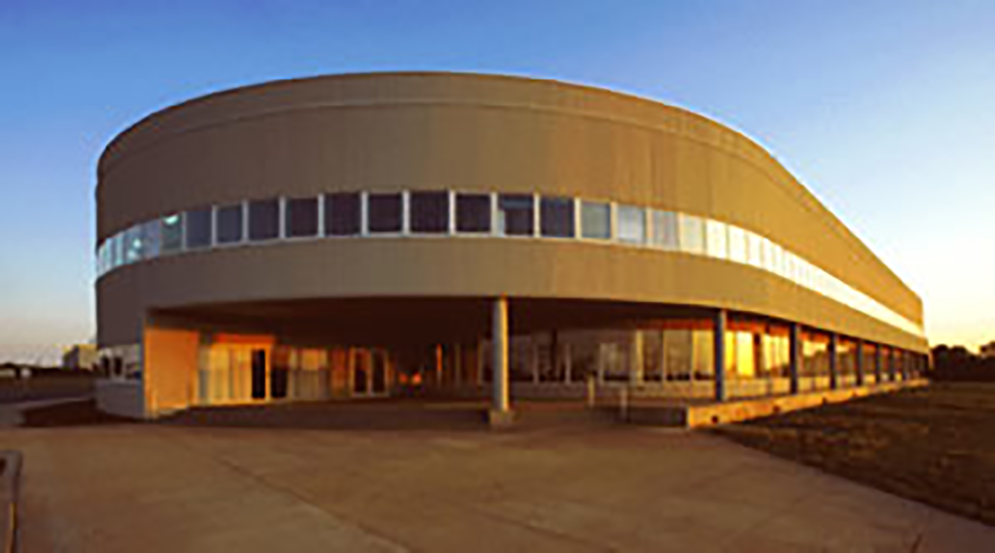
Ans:
POLYGON ((0 430, 24 551, 991 551, 995 528, 643 428, 0 430))

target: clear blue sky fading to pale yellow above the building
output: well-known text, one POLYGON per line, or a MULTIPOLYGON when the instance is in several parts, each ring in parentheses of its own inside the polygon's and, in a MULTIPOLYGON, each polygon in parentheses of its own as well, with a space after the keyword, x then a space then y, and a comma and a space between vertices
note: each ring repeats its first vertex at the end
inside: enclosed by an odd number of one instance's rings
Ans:
POLYGON ((0 0, 0 360, 95 331, 100 150, 272 79, 547 77, 690 107, 767 147, 925 301, 995 339, 995 2, 0 0))

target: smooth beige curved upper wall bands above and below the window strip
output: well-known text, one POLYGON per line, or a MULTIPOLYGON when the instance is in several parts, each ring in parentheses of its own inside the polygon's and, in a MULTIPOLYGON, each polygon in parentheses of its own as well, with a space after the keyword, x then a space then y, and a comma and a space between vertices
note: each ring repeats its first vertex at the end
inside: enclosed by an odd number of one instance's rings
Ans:
MULTIPOLYGON (((98 234, 246 198, 442 188, 603 198, 719 219, 921 321, 919 298, 756 144, 688 111, 552 82, 347 76, 193 100, 108 146, 98 234)), ((576 243, 364 239, 249 247, 118 269, 100 279, 98 293, 101 343, 134 333, 147 307, 507 293, 727 306, 925 348, 921 338, 749 267, 576 243)))

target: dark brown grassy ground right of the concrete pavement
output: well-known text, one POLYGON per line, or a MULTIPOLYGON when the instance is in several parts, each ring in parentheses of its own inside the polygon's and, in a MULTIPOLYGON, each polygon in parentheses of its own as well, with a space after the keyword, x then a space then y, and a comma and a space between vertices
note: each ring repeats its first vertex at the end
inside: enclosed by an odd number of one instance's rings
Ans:
POLYGON ((995 525, 995 384, 933 384, 713 432, 995 525))

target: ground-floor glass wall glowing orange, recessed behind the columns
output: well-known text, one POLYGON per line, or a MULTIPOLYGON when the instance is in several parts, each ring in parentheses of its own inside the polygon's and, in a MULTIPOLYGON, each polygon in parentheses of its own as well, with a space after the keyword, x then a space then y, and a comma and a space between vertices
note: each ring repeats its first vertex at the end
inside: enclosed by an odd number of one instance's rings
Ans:
MULTIPOLYGON (((791 392, 788 323, 733 313, 725 328, 725 397, 791 392)), ((508 340, 512 396, 581 398, 593 387, 599 394, 625 389, 643 397, 711 399, 713 329, 712 317, 683 317, 513 334, 508 340)), ((830 389, 832 335, 806 328, 799 336, 798 391, 830 389)), ((925 356, 845 336, 835 339, 835 353, 839 388, 915 378, 927 366, 925 356)), ((483 399, 490 396, 492 356, 486 337, 375 348, 207 335, 194 396, 199 405, 423 394, 483 399)))

